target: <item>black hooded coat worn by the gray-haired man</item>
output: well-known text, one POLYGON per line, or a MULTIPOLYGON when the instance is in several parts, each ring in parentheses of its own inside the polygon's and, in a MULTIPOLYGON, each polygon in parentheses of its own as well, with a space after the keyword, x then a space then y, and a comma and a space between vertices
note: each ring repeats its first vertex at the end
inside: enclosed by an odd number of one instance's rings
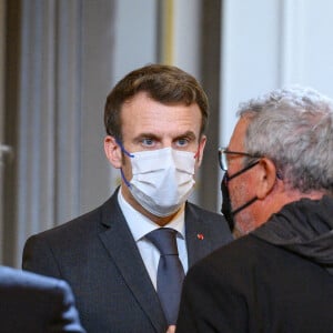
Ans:
POLYGON ((176 333, 332 333, 332 212, 327 198, 292 203, 198 263, 176 333))

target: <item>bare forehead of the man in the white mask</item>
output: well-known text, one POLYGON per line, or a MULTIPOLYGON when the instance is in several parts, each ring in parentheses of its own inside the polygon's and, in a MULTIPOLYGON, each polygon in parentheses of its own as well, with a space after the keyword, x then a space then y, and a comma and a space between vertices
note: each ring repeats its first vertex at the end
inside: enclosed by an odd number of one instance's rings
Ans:
POLYGON ((165 105, 140 92, 121 111, 122 134, 173 133, 192 131, 199 135, 202 114, 198 104, 165 105))

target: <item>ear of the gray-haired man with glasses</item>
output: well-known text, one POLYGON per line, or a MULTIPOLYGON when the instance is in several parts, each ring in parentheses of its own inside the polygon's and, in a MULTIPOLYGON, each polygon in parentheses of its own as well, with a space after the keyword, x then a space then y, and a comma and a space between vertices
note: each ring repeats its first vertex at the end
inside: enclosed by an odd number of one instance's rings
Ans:
POLYGON ((270 159, 262 158, 256 170, 256 196, 258 199, 264 199, 275 185, 276 168, 270 159))

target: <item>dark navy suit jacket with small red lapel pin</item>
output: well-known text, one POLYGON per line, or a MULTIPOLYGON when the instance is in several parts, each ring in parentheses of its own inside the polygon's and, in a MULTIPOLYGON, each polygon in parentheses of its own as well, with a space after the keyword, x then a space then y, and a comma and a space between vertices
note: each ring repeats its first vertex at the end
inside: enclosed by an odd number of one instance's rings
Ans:
MULTIPOLYGON (((165 333, 158 294, 117 192, 94 211, 31 236, 23 251, 23 269, 68 281, 88 332, 165 333)), ((222 215, 190 203, 185 230, 189 266, 232 240, 222 215)))

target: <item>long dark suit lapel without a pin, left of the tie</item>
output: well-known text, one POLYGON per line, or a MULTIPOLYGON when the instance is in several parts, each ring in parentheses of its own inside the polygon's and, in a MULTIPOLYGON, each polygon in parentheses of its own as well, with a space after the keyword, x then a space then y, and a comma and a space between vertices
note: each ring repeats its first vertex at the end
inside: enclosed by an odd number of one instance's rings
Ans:
POLYGON ((158 294, 120 210, 117 192, 110 200, 102 213, 102 224, 108 229, 100 233, 100 239, 152 325, 161 332, 165 330, 167 321, 158 294))

